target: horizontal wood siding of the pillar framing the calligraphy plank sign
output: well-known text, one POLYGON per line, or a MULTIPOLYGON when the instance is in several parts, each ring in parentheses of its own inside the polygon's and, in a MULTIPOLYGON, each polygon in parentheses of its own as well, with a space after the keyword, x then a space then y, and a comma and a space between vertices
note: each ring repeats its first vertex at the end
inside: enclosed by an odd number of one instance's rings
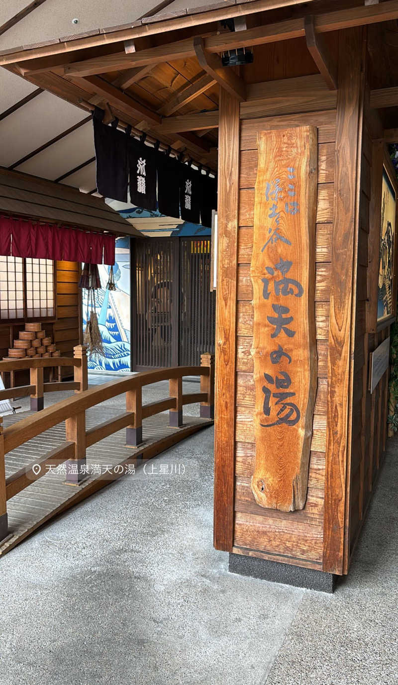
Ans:
POLYGON ((314 569, 321 569, 323 555, 327 341, 335 134, 336 112, 328 110, 311 114, 245 119, 242 121, 240 136, 234 551, 314 569), (301 125, 316 126, 319 135, 315 287, 318 390, 306 506, 301 511, 280 512, 258 506, 250 487, 256 449, 253 432, 253 358, 250 352, 253 335, 253 289, 249 273, 253 249, 254 184, 258 164, 256 139, 258 132, 264 129, 301 125))

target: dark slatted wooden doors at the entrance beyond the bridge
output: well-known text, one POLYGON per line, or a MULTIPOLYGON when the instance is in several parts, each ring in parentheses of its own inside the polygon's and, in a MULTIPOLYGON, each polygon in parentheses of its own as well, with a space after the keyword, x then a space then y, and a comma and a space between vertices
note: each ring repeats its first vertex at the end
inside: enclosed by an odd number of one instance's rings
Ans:
POLYGON ((135 242, 132 369, 199 365, 203 352, 214 352, 210 240, 148 238, 135 242))

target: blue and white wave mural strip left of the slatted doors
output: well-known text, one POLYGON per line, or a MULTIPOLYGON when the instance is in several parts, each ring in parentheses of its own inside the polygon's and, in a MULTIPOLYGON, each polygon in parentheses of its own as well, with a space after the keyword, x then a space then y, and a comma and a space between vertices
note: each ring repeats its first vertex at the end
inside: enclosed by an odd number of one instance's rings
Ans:
MULTIPOLYGON (((129 238, 116 240, 114 283, 116 290, 107 290, 110 266, 99 264, 101 290, 95 290, 99 330, 105 356, 88 356, 89 371, 131 371, 130 356, 130 245, 129 238)), ((83 290, 83 329, 87 321, 87 295, 83 290)))

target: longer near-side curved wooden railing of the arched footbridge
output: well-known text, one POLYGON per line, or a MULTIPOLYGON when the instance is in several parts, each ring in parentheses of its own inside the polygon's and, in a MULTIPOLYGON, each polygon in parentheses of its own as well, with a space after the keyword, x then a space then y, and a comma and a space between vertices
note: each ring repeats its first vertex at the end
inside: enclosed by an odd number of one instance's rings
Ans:
MULTIPOLYGON (((57 362, 60 359, 58 358, 57 362)), ((79 380, 76 380, 73 386, 77 386, 79 383, 79 388, 81 388, 84 383, 87 384, 86 377, 84 377, 82 372, 82 368, 84 368, 83 356, 82 358, 75 357, 73 360, 68 359, 69 366, 71 366, 71 361, 77 362, 74 364, 75 369, 77 368, 81 371, 80 377, 77 376, 79 380)), ((46 362, 51 362, 51 358, 31 360, 31 362, 36 362, 36 364, 29 366, 31 370, 40 369, 43 366, 47 366, 46 362), (37 362, 44 362, 44 364, 41 366, 37 362)), ((3 363, 14 362, 0 362, 0 364, 3 363)), ((59 385, 62 386, 62 388, 59 388, 62 390, 71 384, 62 383, 59 385)), ((28 387, 30 390, 31 386, 28 387)), ((18 388, 13 390, 18 390, 18 388)), ((123 428, 127 429, 127 447, 138 447, 142 443, 143 419, 169 410, 169 424, 173 427, 180 427, 182 426, 183 406, 195 402, 201 403, 201 416, 203 418, 212 419, 214 417, 214 356, 210 354, 203 354, 201 356, 201 366, 175 366, 171 369, 145 371, 137 373, 133 377, 95 386, 89 390, 80 391, 79 389, 79 392, 74 397, 69 397, 53 404, 51 407, 42 409, 38 414, 27 416, 25 419, 5 429, 3 429, 2 418, 0 417, 0 540, 8 534, 8 499, 20 493, 21 490, 24 490, 32 482, 42 477, 42 475, 45 475, 46 469, 50 464, 53 466, 66 462, 66 483, 79 485, 87 477, 87 447, 95 445, 99 440, 103 440, 103 438, 123 428), (182 377, 195 375, 201 378, 200 393, 183 395, 182 377), (165 380, 169 380, 170 397, 142 405, 142 388, 165 380), (126 411, 114 419, 109 419, 109 421, 104 421, 86 430, 86 409, 90 409, 123 393, 126 393, 126 411), (17 471, 17 473, 14 473, 14 475, 5 479, 5 454, 27 443, 28 440, 35 438, 47 429, 58 425, 58 423, 62 423, 62 421, 65 421, 65 442, 47 452, 40 459, 36 459, 31 465, 25 466, 20 471, 17 471), (39 466, 40 469, 38 468, 39 466)))

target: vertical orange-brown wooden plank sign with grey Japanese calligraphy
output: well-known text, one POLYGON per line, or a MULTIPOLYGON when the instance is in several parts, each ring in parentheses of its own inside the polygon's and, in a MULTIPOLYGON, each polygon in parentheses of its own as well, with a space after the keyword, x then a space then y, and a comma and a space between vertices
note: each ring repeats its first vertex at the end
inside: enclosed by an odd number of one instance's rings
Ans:
POLYGON ((254 206, 253 347, 257 503, 306 503, 316 395, 315 221, 317 131, 258 134, 254 206))

